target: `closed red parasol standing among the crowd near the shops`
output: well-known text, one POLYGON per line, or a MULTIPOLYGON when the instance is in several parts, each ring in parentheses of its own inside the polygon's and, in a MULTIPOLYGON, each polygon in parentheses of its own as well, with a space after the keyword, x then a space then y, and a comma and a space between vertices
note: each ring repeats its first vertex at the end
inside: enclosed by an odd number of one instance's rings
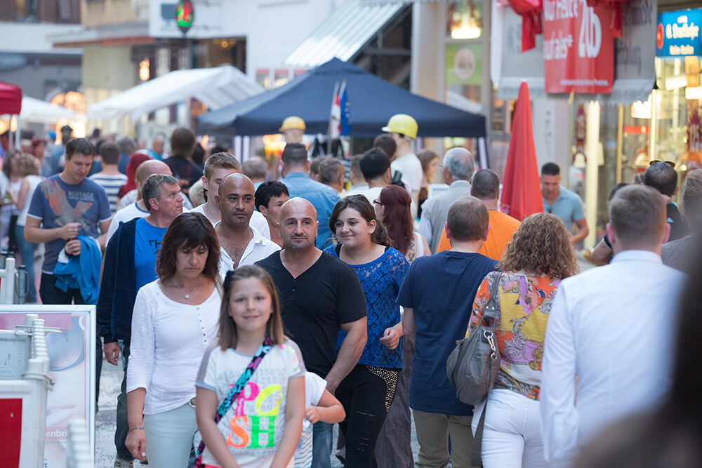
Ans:
POLYGON ((538 177, 534 149, 534 128, 531 126, 529 87, 524 81, 522 86, 519 86, 515 119, 512 122, 501 208, 503 213, 519 221, 534 213, 543 213, 541 180, 538 177))

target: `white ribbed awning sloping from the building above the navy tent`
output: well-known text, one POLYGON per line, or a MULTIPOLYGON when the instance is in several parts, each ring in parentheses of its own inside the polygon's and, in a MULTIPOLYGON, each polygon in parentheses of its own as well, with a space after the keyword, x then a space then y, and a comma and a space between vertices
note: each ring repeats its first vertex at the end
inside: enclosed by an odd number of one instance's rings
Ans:
POLYGON ((350 60, 403 7, 397 1, 344 1, 283 63, 288 67, 313 68, 334 57, 350 60))

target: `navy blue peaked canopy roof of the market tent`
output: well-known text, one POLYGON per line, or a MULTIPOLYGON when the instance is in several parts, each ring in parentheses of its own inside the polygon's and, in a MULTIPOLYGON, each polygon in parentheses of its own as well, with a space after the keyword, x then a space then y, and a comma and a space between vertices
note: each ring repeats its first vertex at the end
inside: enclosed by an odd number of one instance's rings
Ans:
POLYGON ((285 117, 296 115, 305 120, 305 133, 326 134, 334 88, 343 80, 352 137, 374 137, 393 114, 409 114, 418 122, 418 136, 482 138, 484 145, 484 116, 422 98, 338 58, 280 88, 206 112, 197 118, 197 131, 230 137, 268 135, 278 133, 285 117))

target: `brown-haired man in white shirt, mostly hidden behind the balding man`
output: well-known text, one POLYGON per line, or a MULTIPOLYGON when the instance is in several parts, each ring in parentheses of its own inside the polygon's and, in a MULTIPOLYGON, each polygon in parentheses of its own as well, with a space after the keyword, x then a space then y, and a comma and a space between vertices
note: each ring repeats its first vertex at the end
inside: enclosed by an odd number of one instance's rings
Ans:
MULTIPOLYGON (((215 203, 215 195, 219 185, 227 175, 241 173, 241 163, 230 153, 215 153, 205 161, 205 171, 202 176, 202 187, 206 190, 207 201, 192 208, 194 213, 202 213, 213 225, 220 220, 220 210, 215 203)), ((252 192, 253 193, 253 192, 252 192)), ((251 226, 255 227, 261 236, 270 239, 270 228, 265 217, 258 211, 251 215, 251 226)))

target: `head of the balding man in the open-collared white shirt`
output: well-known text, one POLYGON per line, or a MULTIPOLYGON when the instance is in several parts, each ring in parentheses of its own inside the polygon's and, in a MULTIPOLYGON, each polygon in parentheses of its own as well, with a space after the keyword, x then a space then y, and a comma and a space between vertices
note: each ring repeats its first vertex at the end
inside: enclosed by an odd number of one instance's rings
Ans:
POLYGON ((253 215, 253 182, 246 175, 234 173, 220 182, 215 203, 222 215, 222 225, 227 229, 249 229, 253 215))

